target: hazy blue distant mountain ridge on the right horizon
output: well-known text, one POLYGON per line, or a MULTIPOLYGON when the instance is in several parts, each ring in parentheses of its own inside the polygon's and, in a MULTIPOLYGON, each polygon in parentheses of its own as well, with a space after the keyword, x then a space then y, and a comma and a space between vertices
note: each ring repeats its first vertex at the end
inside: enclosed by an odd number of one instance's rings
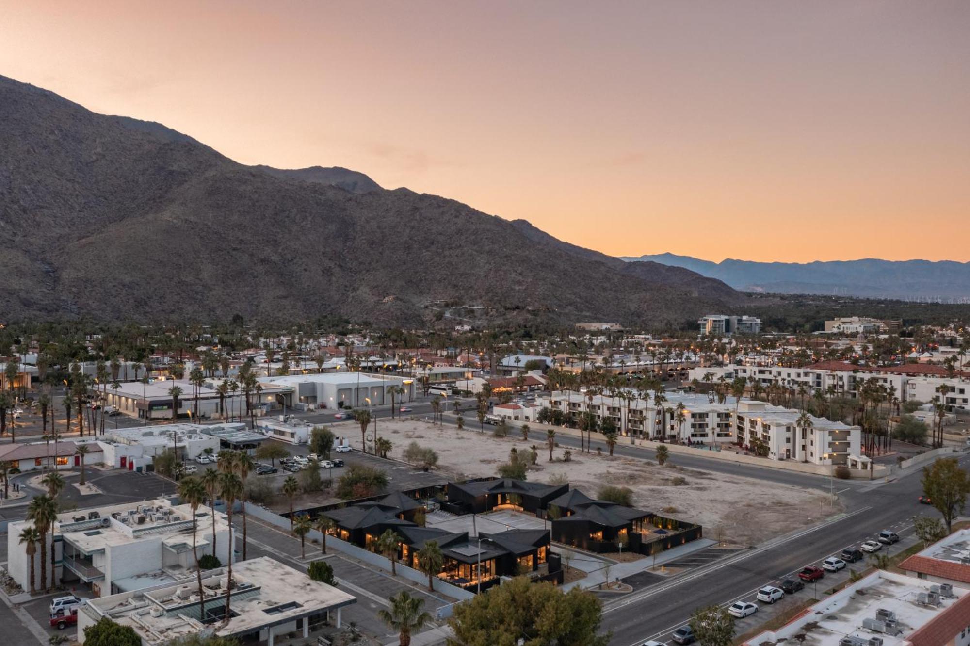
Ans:
POLYGON ((832 260, 762 263, 727 259, 720 263, 672 253, 624 257, 656 262, 723 280, 734 289, 778 294, 827 294, 902 300, 966 302, 970 263, 929 260, 832 260))

